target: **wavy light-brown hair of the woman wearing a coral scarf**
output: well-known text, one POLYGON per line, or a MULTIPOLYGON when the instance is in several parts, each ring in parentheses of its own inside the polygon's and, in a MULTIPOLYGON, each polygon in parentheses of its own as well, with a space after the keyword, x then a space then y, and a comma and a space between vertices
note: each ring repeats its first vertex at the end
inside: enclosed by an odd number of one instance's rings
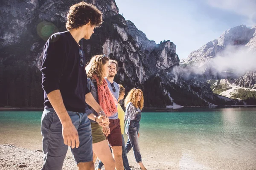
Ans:
POLYGON ((99 85, 101 85, 105 76, 102 66, 108 63, 108 61, 109 58, 103 57, 103 55, 93 56, 90 62, 87 63, 87 66, 85 67, 87 77, 93 79, 93 76, 96 75, 97 77, 99 77, 99 85))

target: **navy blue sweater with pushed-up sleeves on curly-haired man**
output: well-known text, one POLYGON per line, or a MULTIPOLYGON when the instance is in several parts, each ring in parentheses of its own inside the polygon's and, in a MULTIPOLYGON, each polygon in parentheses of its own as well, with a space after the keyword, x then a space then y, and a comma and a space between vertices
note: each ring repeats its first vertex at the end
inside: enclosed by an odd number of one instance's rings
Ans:
POLYGON ((44 108, 52 108, 47 94, 60 90, 67 111, 83 112, 88 109, 85 103, 87 74, 79 61, 80 47, 69 31, 53 34, 44 45, 42 86, 44 89, 44 108))

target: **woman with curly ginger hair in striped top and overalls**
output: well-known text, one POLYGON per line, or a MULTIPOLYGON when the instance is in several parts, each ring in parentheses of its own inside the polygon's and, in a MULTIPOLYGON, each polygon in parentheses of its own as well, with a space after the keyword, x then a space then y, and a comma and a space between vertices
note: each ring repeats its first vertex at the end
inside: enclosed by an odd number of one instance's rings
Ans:
POLYGON ((134 157, 140 164, 142 170, 147 170, 142 163, 139 147, 139 129, 141 119, 141 109, 144 105, 143 92, 140 89, 132 89, 125 98, 125 133, 128 136, 126 143, 127 153, 133 148, 134 157))

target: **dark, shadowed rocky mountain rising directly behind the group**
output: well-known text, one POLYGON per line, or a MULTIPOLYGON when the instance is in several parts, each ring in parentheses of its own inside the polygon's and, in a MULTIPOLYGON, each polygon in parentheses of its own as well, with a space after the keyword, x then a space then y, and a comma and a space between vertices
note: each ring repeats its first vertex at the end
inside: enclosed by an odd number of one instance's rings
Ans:
MULTIPOLYGON (((79 0, 0 2, 0 106, 43 105, 41 65, 49 36, 65 31, 69 6, 79 0)), ((114 0, 86 0, 104 14, 90 40, 81 40, 87 61, 106 54, 119 63, 116 82, 144 91, 146 107, 232 105, 237 100, 212 93, 205 76, 179 66, 171 41, 156 44, 118 12, 114 0)), ((250 34, 248 33, 248 37, 250 34)))

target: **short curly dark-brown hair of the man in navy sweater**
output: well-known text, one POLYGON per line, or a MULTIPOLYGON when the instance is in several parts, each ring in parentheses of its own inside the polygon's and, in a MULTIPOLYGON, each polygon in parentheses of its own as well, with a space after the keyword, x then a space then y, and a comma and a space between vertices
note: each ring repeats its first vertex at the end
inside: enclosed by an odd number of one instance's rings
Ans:
POLYGON ((98 27, 102 24, 102 13, 92 4, 80 2, 70 6, 67 14, 67 30, 79 28, 89 23, 98 27))

